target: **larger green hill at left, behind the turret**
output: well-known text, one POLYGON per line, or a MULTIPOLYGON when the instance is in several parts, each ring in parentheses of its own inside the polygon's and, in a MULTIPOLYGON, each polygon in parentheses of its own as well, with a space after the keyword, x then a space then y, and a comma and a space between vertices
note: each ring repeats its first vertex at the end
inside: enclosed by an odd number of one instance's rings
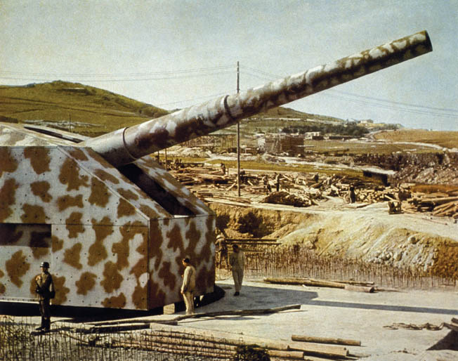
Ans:
POLYGON ((168 112, 93 86, 53 81, 0 86, 0 121, 39 123, 97 136, 168 112))

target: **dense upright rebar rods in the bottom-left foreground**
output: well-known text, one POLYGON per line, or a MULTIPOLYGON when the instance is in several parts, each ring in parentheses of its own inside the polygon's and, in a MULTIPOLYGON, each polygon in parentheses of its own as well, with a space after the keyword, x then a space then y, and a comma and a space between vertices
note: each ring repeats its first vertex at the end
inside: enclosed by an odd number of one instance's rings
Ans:
POLYGON ((243 339, 215 339, 211 334, 143 330, 89 333, 74 324, 55 322, 51 332, 35 332, 30 317, 0 318, 0 360, 207 361, 234 360, 243 339))

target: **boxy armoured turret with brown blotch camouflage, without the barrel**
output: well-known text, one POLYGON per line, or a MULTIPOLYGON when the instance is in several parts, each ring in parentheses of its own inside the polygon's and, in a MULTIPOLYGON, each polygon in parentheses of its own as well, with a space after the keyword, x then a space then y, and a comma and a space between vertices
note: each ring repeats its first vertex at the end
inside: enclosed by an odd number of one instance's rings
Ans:
POLYGON ((1 300, 33 301, 41 261, 58 305, 181 301, 185 256, 197 265, 197 293, 213 290, 214 214, 203 202, 150 157, 119 170, 90 148, 56 143, 0 126, 1 300), (137 184, 122 172, 138 173, 137 184), (142 190, 152 182, 171 199, 161 205, 142 190))

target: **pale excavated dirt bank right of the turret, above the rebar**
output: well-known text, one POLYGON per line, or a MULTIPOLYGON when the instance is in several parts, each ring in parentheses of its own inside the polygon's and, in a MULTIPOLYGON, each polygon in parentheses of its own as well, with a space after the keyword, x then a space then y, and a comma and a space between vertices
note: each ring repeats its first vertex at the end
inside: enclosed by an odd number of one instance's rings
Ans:
POLYGON ((297 212, 221 204, 211 208, 218 228, 228 237, 277 237, 285 246, 301 244, 323 256, 414 266, 431 275, 458 278, 458 242, 452 238, 456 232, 445 225, 440 228, 402 214, 390 217, 377 210, 297 212))

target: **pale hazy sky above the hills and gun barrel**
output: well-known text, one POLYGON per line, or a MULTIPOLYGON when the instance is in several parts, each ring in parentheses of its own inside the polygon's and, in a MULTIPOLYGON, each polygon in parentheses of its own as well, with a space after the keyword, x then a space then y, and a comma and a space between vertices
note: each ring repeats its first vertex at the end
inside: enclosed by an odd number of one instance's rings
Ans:
POLYGON ((426 29, 433 52, 285 105, 458 131, 458 0, 0 0, 0 84, 74 81, 167 110, 426 29))

